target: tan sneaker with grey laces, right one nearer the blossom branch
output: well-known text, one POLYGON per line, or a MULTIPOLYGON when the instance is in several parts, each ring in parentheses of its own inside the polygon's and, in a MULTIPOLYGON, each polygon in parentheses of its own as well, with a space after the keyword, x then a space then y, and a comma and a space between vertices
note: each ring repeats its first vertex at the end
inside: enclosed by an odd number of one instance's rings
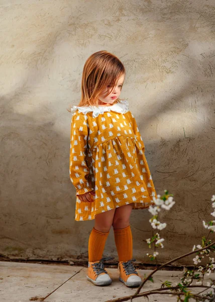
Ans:
POLYGON ((120 281, 126 284, 128 287, 140 286, 142 278, 136 271, 132 261, 136 259, 128 260, 126 262, 120 261, 118 264, 118 270, 120 271, 120 281))

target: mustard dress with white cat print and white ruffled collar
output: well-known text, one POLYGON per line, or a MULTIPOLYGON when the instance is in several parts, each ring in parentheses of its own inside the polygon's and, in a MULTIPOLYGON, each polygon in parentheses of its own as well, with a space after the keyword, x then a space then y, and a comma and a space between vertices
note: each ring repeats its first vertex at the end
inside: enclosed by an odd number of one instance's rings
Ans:
POLYGON ((75 220, 133 203, 148 208, 157 198, 145 145, 127 100, 112 106, 71 108, 70 179, 76 196, 95 190, 93 202, 76 197, 75 220))

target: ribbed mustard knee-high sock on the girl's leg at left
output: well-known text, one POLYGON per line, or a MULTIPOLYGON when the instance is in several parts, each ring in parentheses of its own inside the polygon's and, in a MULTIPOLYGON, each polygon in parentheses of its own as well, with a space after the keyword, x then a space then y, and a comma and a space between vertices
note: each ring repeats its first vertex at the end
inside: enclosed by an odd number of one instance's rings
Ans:
POLYGON ((107 233, 102 233, 98 230, 95 230, 94 226, 89 235, 88 241, 88 261, 94 262, 98 261, 102 258, 105 242, 107 236, 109 235, 110 231, 107 233))

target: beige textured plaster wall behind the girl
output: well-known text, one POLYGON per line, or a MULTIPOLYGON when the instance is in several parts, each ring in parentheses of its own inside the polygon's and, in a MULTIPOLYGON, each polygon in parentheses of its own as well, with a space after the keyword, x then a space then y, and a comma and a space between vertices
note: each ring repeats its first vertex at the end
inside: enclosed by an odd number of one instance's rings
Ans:
MULTIPOLYGON (((94 221, 74 220, 66 108, 79 102, 85 60, 103 49, 125 64, 121 97, 139 124, 157 193, 169 189, 176 201, 160 219, 168 225, 159 261, 199 244, 215 193, 214 1, 0 5, 0 254, 87 259, 94 221)), ((131 214, 133 256, 145 263, 150 217, 131 214)), ((117 259, 113 230, 103 255, 117 259)))

